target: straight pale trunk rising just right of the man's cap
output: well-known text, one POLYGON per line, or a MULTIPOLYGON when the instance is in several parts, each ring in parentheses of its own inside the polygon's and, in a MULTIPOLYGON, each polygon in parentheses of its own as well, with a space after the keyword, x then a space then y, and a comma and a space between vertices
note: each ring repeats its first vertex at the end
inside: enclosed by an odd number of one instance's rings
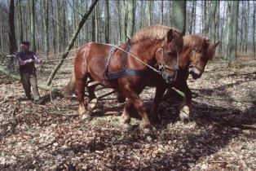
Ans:
POLYGON ((35 1, 30 2, 30 32, 31 32, 31 49, 33 52, 36 48, 36 25, 35 25, 35 1))

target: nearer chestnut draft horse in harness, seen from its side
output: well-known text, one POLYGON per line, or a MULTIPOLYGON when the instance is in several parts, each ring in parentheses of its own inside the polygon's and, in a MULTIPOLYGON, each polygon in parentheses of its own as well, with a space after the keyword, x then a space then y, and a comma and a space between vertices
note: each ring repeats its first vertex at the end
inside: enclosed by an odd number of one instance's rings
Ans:
MULTIPOLYGON (((135 106, 142 121, 139 127, 148 131, 150 121, 145 103, 139 98, 140 92, 145 86, 151 85, 157 87, 155 101, 161 99, 165 92, 167 83, 172 83, 177 74, 178 56, 183 48, 183 34, 175 29, 166 26, 149 26, 139 30, 126 42, 121 49, 125 49, 130 43, 130 54, 137 56, 154 68, 160 69, 158 64, 164 66, 161 75, 158 72, 149 70, 148 67, 133 58, 131 55, 127 57, 127 68, 133 68, 148 71, 144 76, 119 77, 115 80, 104 79, 104 66, 106 64, 110 46, 104 44, 90 42, 77 52, 74 64, 74 75, 77 82, 77 99, 79 102, 78 112, 83 118, 90 116, 86 112, 84 104, 84 94, 86 79, 90 77, 92 81, 101 81, 101 85, 111 87, 117 92, 124 94, 127 98, 124 112, 121 116, 121 124, 129 127, 130 124, 130 108, 135 106), (164 79, 163 79, 164 78, 164 79)), ((124 52, 116 50, 108 66, 109 72, 117 72, 123 68, 124 52)), ((90 87, 87 87, 90 90, 90 87)))

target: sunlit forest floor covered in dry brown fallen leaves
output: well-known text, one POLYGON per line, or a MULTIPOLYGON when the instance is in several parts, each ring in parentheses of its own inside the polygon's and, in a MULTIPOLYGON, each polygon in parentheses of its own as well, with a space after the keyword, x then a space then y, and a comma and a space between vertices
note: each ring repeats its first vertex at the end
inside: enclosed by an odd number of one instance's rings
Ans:
MULTIPOLYGON (((135 118, 123 132, 124 103, 114 95, 99 100, 91 121, 81 121, 75 98, 40 90, 46 104, 33 104, 22 99, 20 81, 1 73, 0 170, 256 170, 256 130, 241 126, 256 125, 256 60, 239 63, 230 69, 214 59, 201 79, 189 78, 192 120, 179 121, 173 97, 161 103, 163 120, 150 135, 139 132, 135 118)), ((69 73, 62 69, 54 85, 67 83, 69 73)), ((152 100, 154 92, 147 88, 141 97, 152 100)))

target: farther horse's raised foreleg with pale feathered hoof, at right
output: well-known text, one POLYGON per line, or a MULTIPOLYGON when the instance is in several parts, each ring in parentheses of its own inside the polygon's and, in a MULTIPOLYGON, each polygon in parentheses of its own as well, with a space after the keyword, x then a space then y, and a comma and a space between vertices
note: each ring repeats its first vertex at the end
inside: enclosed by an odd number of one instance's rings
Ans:
POLYGON ((179 90, 183 91, 185 97, 183 103, 180 106, 179 110, 179 119, 181 121, 189 121, 189 114, 191 111, 191 102, 192 102, 192 91, 188 88, 187 81, 180 85, 179 90))

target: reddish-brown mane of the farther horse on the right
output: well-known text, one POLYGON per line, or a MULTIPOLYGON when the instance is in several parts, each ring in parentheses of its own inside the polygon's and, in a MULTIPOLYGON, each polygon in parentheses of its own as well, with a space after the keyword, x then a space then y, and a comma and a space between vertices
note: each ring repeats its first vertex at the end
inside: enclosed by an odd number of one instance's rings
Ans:
POLYGON ((215 47, 214 42, 212 42, 209 38, 202 37, 198 34, 186 35, 183 37, 183 46, 184 48, 193 47, 197 50, 205 50, 205 40, 209 44, 206 50, 206 57, 207 59, 211 60, 214 58, 215 47))

